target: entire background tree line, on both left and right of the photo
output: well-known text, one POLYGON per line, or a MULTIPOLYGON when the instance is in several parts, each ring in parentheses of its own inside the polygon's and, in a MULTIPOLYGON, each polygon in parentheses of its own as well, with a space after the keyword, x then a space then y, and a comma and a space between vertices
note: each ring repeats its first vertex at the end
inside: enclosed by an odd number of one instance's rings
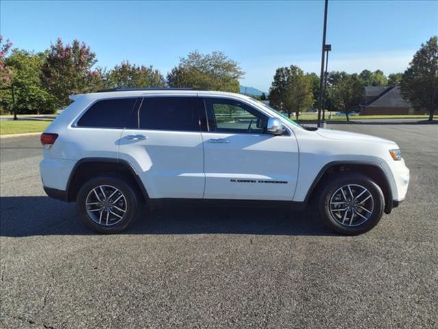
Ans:
MULTIPOLYGON (((438 104, 437 40, 433 36, 422 44, 404 73, 328 73, 324 108, 348 113, 363 102, 365 86, 400 85, 402 95, 415 108, 428 110, 432 119, 438 104)), ((192 87, 238 93, 244 76, 239 64, 221 51, 192 51, 166 77, 152 65, 124 61, 107 69, 94 68, 96 62, 96 54, 78 40, 64 44, 58 38, 46 51, 35 53, 12 49, 10 40, 3 42, 0 36, 0 111, 53 113, 70 103, 68 95, 107 88, 192 87)), ((294 112, 298 119, 300 112, 318 107, 320 91, 318 75, 291 65, 276 69, 268 99, 271 106, 289 116, 294 112)))

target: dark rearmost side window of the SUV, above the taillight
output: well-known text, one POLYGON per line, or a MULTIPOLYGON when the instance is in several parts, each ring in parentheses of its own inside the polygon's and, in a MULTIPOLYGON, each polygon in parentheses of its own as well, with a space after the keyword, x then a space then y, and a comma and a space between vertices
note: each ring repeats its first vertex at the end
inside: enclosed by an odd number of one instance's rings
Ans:
POLYGON ((124 128, 136 98, 96 101, 77 122, 78 127, 124 128))

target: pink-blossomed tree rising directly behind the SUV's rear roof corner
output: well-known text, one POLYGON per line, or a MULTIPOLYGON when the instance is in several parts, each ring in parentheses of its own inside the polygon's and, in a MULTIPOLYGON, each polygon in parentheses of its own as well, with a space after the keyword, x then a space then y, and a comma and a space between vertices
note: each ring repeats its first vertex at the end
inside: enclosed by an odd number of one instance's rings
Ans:
POLYGON ((92 66, 96 63, 96 54, 84 42, 73 40, 64 45, 58 38, 47 51, 42 66, 42 82, 56 97, 58 106, 70 103, 68 95, 94 91, 90 81, 94 80, 92 66))

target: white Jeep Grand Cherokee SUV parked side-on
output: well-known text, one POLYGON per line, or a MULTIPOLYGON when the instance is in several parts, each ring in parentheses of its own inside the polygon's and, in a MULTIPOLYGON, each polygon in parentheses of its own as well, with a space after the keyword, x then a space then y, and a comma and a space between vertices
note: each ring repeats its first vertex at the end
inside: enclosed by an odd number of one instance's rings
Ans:
POLYGON ((142 204, 299 210, 314 199, 326 225, 360 234, 407 193, 396 143, 305 128, 244 95, 149 88, 70 98, 41 136, 42 182, 50 197, 76 201, 97 232, 125 230, 142 204))

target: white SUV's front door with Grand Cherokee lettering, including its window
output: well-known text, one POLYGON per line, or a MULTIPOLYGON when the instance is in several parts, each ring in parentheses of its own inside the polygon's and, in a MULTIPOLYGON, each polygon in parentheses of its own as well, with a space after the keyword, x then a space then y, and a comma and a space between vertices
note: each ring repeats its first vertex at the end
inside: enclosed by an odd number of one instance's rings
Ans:
POLYGON ((264 132, 268 117, 252 106, 205 97, 205 199, 292 201, 298 175, 293 132, 264 132))

